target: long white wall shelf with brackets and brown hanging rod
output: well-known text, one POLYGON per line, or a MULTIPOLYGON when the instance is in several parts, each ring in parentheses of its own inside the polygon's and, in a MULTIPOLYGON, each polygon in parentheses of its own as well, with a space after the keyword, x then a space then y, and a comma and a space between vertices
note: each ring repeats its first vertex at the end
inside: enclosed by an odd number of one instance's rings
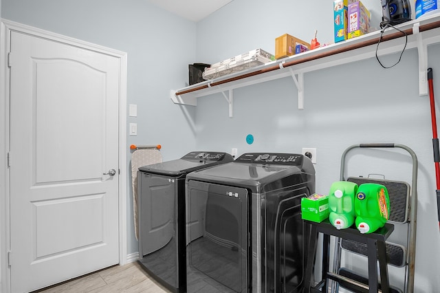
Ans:
MULTIPOLYGON (((440 43, 440 14, 423 19, 408 21, 396 28, 406 32, 408 43, 406 50, 417 47, 419 51, 419 93, 427 94, 426 50, 432 43, 440 43)), ((289 56, 258 67, 228 74, 202 83, 190 85, 177 91, 170 91, 170 98, 176 104, 197 105, 197 98, 210 94, 223 93, 230 105, 232 117, 232 90, 256 83, 292 76, 298 89, 298 109, 303 109, 303 74, 318 69, 361 61, 375 56, 380 30, 355 39, 349 39, 315 50, 289 56), (225 94, 228 92, 228 95, 225 94)), ((400 52, 405 43, 405 36, 393 28, 387 28, 377 50, 378 56, 400 52)))

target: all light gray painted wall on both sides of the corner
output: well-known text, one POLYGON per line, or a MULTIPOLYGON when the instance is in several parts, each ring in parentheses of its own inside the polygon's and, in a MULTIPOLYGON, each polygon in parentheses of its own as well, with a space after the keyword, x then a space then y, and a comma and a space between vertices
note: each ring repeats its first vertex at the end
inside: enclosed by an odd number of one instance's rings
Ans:
MULTIPOLYGON (((401 63, 382 69, 375 59, 305 74, 305 110, 297 108, 292 78, 236 89, 234 118, 221 94, 199 98, 197 107, 173 105, 169 89, 185 86, 187 65, 214 63, 256 47, 274 52, 274 39, 292 34, 309 41, 333 35, 333 1, 234 0, 199 23, 191 23, 146 1, 3 1, 1 16, 128 52, 128 103, 138 105, 138 136, 128 144, 162 144, 164 160, 192 149, 300 152, 318 149, 319 193, 339 180, 340 156, 351 144, 395 142, 410 146, 419 158, 416 291, 440 287, 440 237, 435 204, 432 132, 427 97, 418 95, 417 50, 404 53, 401 63), (323 4, 325 2, 325 4, 323 4), (147 127, 153 124, 154 127, 147 127), (245 136, 255 142, 248 145, 245 136)), ((378 27, 380 1, 365 0, 378 27)), ((384 57, 392 63, 397 55, 384 57)), ((440 45, 428 50, 440 96, 440 45)), ((127 146, 128 147, 128 146, 127 146)), ((127 151, 127 158, 131 154, 127 151)), ((410 160, 397 151, 355 152, 349 175, 382 173, 410 182, 410 160), (377 159, 379 158, 379 159, 377 159)), ((137 251, 131 221, 129 184, 129 253, 137 251)), ((401 236, 403 231, 396 231, 401 236)), ((399 238, 399 237, 396 237, 399 238)), ((347 257, 356 266, 357 259, 347 257)), ((364 266, 362 266, 364 267, 364 266)), ((362 268, 361 268, 362 269, 362 268)), ((391 281, 401 287, 401 269, 391 269, 391 281)))

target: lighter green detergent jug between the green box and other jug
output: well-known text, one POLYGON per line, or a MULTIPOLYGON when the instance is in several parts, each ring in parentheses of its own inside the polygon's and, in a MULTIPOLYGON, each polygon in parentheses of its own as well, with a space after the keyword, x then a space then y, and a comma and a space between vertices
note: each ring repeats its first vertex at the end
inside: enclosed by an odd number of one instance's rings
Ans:
POLYGON ((338 230, 355 222, 354 200, 358 184, 348 181, 333 182, 329 192, 329 221, 338 230))

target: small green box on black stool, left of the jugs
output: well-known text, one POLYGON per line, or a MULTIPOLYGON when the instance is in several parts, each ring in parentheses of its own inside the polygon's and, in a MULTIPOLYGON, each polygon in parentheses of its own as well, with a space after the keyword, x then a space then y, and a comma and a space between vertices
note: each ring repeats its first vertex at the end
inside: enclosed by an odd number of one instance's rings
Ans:
POLYGON ((301 218, 320 223, 329 217, 329 196, 314 193, 301 199, 301 218))

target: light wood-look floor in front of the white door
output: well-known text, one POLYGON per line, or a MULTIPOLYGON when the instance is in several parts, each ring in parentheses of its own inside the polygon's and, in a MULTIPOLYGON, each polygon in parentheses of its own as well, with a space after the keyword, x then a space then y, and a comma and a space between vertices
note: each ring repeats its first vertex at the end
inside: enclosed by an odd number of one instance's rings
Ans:
POLYGON ((34 293, 169 293, 142 270, 137 262, 115 265, 34 293))

